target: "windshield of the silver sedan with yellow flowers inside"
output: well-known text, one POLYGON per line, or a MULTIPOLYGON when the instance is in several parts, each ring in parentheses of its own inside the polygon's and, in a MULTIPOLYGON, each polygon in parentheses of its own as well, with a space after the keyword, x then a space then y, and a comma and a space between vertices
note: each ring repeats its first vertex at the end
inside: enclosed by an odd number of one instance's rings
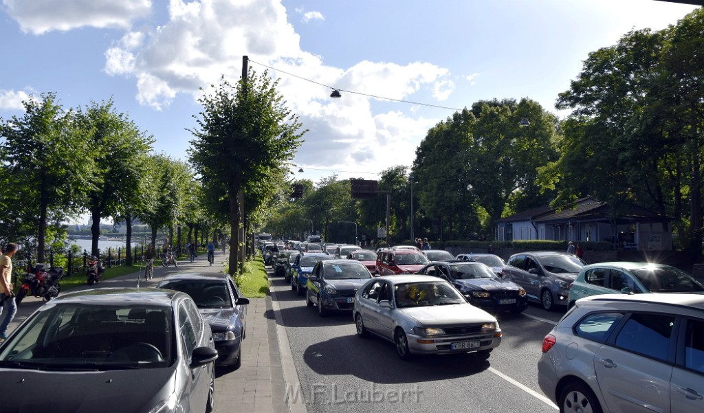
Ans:
POLYGON ((446 282, 396 284, 394 296, 398 308, 466 303, 455 287, 446 282))

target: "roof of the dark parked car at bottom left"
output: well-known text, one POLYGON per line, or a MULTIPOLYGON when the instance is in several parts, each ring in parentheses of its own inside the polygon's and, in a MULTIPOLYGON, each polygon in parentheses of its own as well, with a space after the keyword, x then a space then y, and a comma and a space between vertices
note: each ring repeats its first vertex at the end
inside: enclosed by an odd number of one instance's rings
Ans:
POLYGON ((62 294, 51 303, 81 303, 81 304, 106 304, 106 305, 129 305, 130 303, 144 303, 149 305, 161 305, 170 307, 172 301, 179 295, 187 296, 179 291, 166 290, 164 288, 120 288, 101 287, 90 290, 72 291, 62 294))

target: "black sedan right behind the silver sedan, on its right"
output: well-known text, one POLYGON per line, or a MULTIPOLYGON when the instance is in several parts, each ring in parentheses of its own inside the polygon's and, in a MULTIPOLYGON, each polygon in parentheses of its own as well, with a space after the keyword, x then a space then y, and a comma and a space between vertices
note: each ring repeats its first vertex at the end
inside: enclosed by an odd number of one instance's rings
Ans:
POLYGON ((481 262, 431 262, 418 274, 450 281, 470 304, 482 310, 519 313, 528 307, 528 297, 520 286, 496 277, 481 262))

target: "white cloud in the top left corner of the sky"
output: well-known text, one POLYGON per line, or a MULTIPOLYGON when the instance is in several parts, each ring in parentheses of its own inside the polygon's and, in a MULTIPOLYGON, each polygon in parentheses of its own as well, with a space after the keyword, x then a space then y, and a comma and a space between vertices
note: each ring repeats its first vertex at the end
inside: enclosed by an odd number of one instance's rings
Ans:
POLYGON ((43 34, 77 27, 127 28, 151 12, 151 0, 4 0, 23 32, 43 34))

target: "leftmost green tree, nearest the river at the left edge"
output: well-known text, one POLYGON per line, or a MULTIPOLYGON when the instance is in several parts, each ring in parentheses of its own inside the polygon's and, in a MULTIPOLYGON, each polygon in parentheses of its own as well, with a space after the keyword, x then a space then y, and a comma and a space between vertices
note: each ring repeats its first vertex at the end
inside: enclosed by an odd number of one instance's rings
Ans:
POLYGON ((21 220, 37 239, 37 260, 44 260, 47 225, 80 210, 92 189, 93 163, 86 161, 87 139, 73 127, 56 95, 23 102, 21 117, 1 122, 0 158, 17 203, 4 211, 6 221, 21 220))

